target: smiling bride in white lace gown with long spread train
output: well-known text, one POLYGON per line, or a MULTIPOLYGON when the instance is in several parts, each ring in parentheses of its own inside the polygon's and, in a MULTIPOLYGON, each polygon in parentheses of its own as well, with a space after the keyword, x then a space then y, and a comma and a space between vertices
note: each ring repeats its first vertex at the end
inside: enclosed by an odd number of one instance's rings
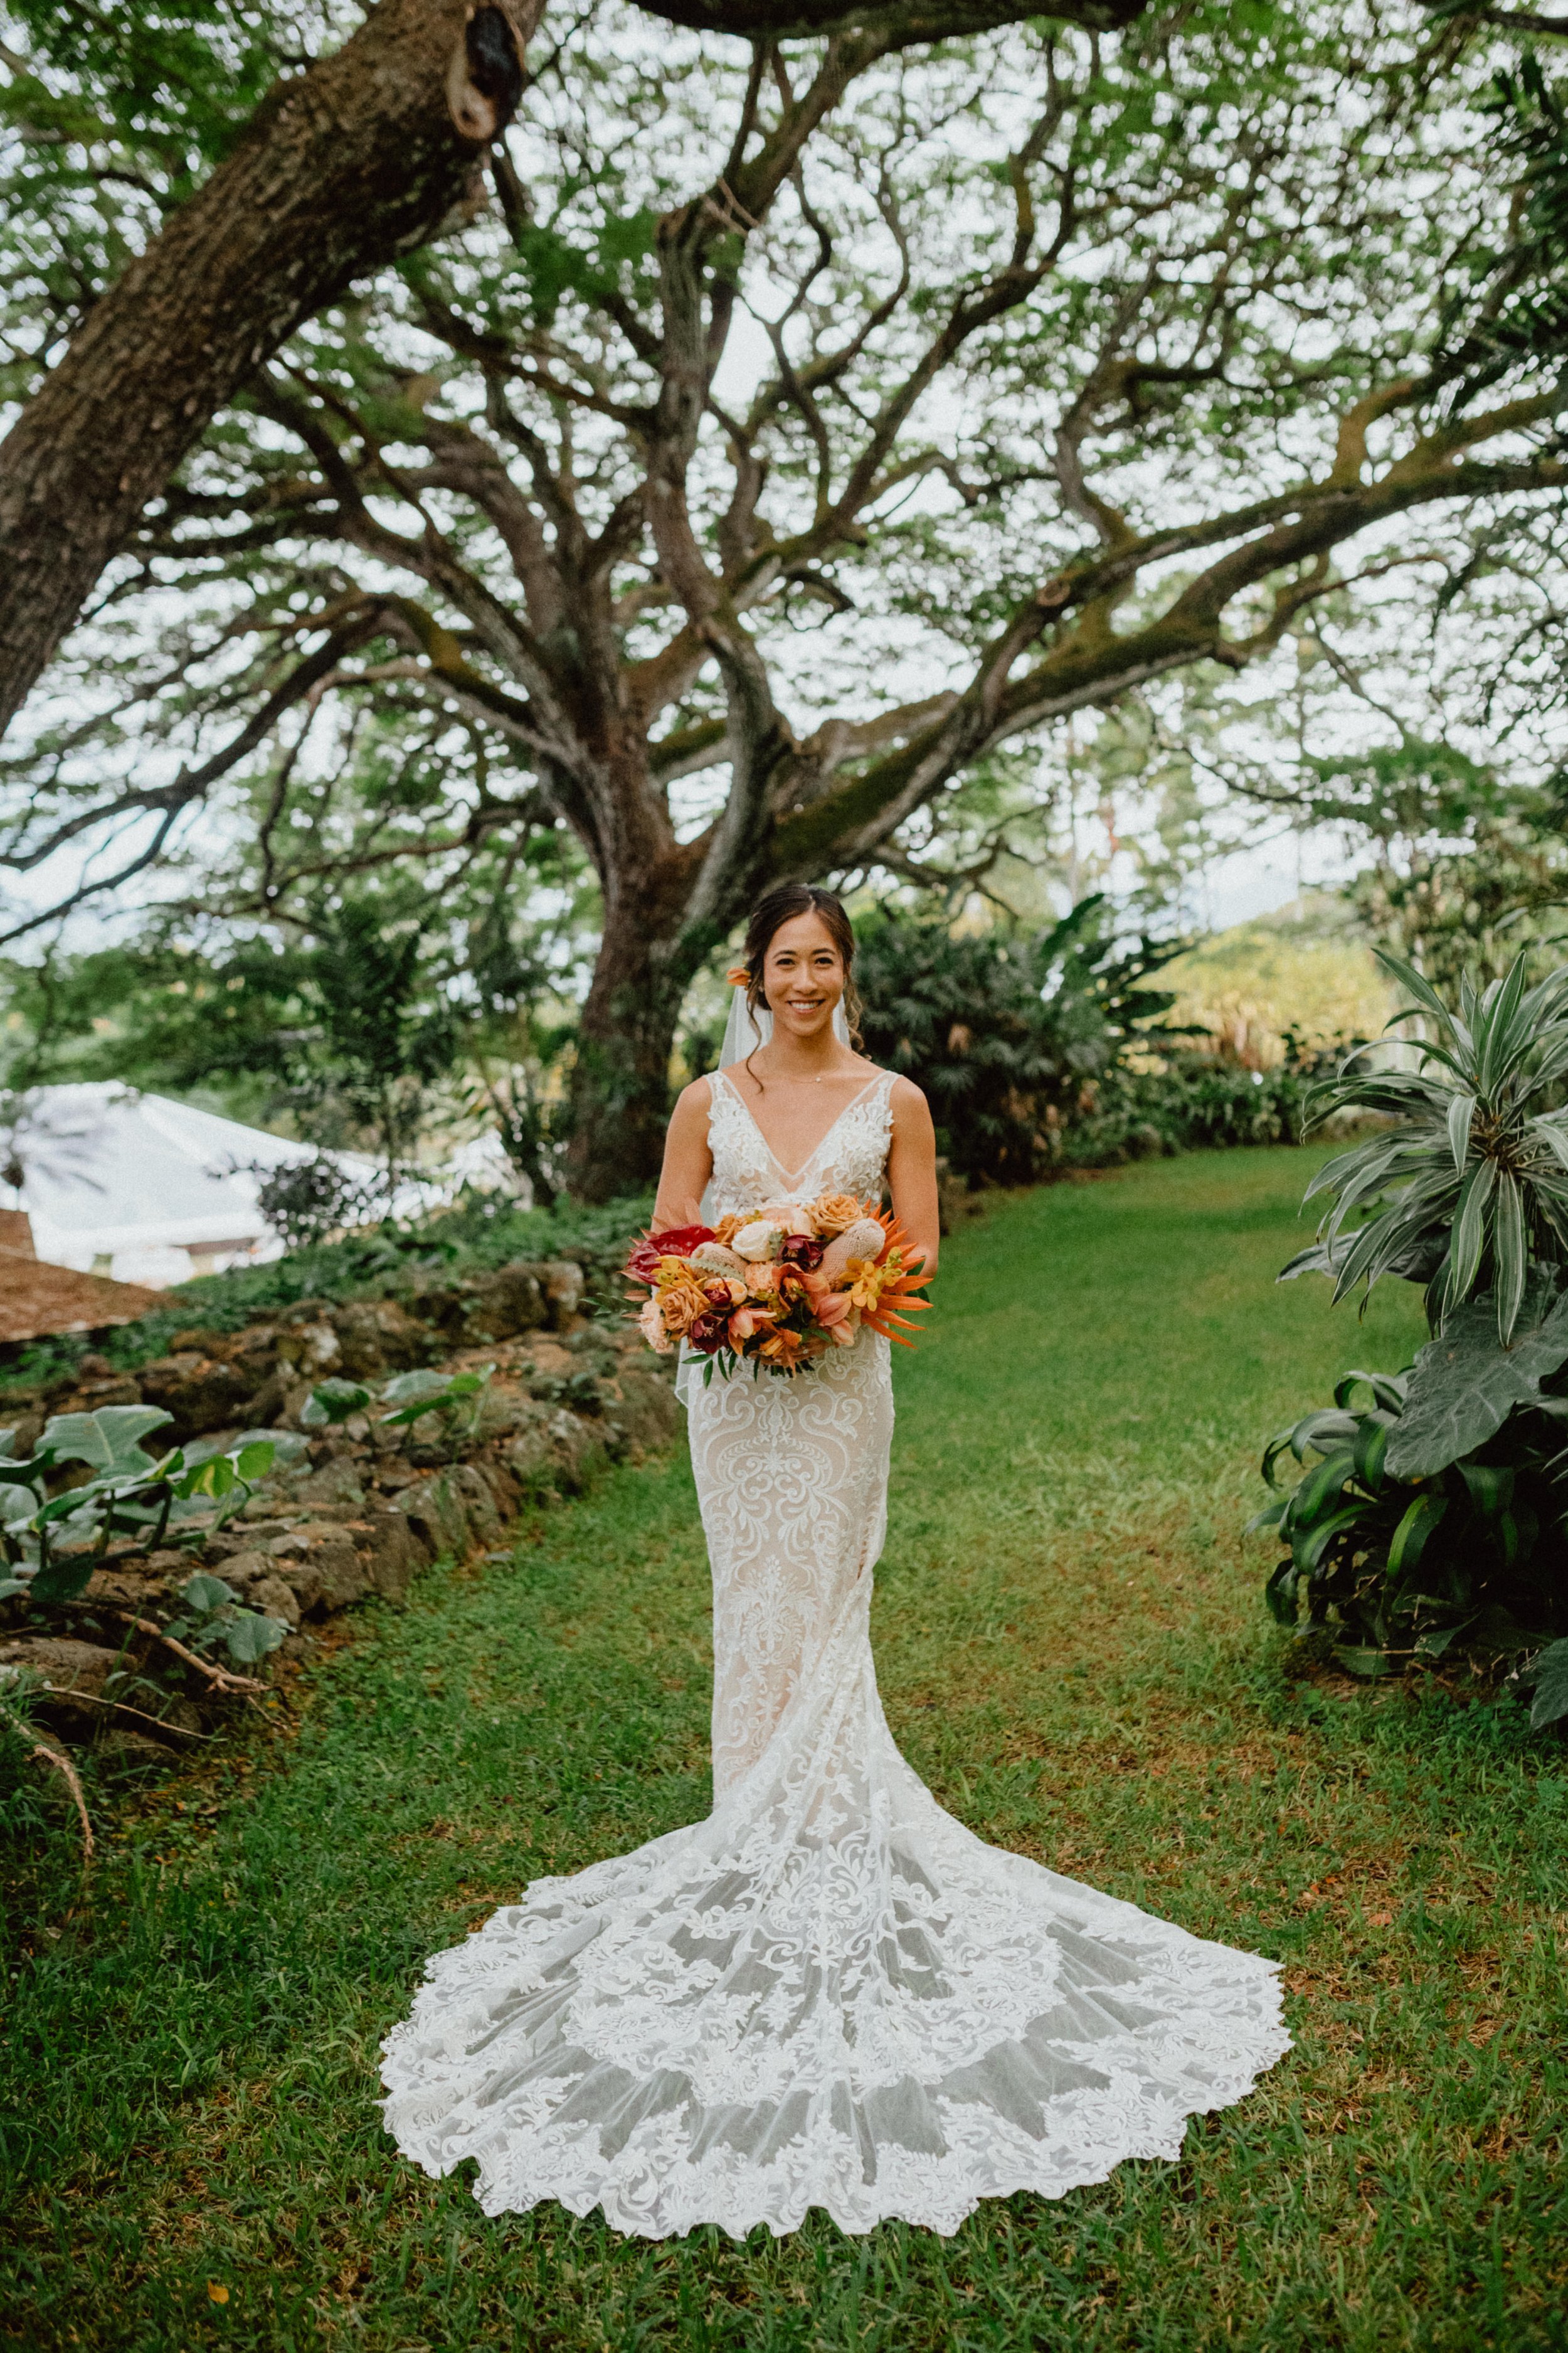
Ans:
MULTIPOLYGON (((835 896, 766 894, 736 1049, 670 1120, 656 1233, 886 1181, 936 1264, 931 1115, 853 1052, 851 967, 835 896)), ((1274 1965, 983 1845, 900 1758, 870 1652, 889 1344, 677 1386, 712 1814, 536 1880, 428 1962, 383 2047, 397 2146, 437 2177, 473 2158, 487 2214, 559 2198, 646 2238, 783 2233, 811 2205, 950 2233, 980 2198, 1175 2158, 1288 2049, 1274 1965)))

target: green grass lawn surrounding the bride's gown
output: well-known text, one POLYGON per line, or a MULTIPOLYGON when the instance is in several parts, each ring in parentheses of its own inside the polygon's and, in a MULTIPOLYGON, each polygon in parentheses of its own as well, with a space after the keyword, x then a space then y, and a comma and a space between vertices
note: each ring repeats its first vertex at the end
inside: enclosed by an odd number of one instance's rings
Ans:
POLYGON ((893 1732, 964 1821, 1286 1962, 1295 2052, 1251 2101, 1178 2165, 952 2240, 489 2224, 395 2158, 374 2054, 423 1955, 708 1809, 691 1482, 623 1468, 515 1558, 425 1577, 289 1739, 122 1817, 80 1932, 7 1932, 0 2339, 1566 2346, 1568 1751, 1512 1704, 1291 1680, 1239 1534, 1274 1426, 1418 1337, 1399 1287, 1356 1327, 1272 1285, 1307 1167, 1157 1162, 950 1245, 872 1621, 893 1732))

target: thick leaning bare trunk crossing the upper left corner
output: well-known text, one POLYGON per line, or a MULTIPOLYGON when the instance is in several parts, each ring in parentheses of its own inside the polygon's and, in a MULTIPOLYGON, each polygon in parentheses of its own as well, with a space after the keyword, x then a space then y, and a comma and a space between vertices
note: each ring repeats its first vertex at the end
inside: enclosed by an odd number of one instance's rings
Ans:
POLYGON ((280 82, 0 445, 0 727, 214 409, 468 193, 480 151, 447 111, 463 19, 465 0, 381 0, 280 82))

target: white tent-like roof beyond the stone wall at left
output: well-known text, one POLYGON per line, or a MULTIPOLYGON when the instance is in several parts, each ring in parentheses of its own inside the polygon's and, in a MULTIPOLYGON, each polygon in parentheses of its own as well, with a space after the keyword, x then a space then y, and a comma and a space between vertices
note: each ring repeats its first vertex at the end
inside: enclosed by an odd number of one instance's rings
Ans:
MULTIPOLYGON (((113 1082, 40 1087, 14 1141, 24 1181, 0 1188, 0 1202, 28 1212, 38 1257, 155 1287, 280 1257, 256 1193, 273 1169, 317 1151, 113 1082)), ((355 1179, 376 1174, 362 1153, 329 1158, 355 1179)), ((444 1181, 402 1186, 393 1212, 411 1217, 454 1184, 496 1184, 503 1172, 498 1139, 482 1136, 444 1181)))

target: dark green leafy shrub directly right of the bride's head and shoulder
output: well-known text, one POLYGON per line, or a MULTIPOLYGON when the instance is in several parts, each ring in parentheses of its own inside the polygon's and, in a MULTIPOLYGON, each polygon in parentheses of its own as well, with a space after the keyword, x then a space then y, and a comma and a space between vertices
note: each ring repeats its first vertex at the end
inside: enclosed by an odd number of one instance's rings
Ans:
POLYGON ((959 1176, 1034 1184, 1098 1082, 1168 1012, 1150 979, 1180 941, 1124 946, 1103 894, 1039 936, 952 932, 929 915, 860 925, 865 1052, 924 1089, 959 1176))

